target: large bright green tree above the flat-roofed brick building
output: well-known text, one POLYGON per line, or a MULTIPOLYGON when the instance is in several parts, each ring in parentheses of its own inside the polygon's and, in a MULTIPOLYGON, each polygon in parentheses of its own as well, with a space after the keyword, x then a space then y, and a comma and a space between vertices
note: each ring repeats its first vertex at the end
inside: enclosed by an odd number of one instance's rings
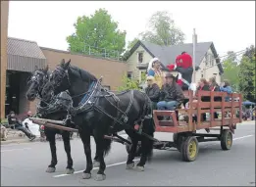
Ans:
POLYGON ((125 50, 126 31, 119 30, 118 23, 104 9, 99 9, 90 17, 78 17, 74 26, 76 32, 67 37, 72 52, 100 56, 107 52, 109 56, 118 56, 115 51, 122 53, 125 50))

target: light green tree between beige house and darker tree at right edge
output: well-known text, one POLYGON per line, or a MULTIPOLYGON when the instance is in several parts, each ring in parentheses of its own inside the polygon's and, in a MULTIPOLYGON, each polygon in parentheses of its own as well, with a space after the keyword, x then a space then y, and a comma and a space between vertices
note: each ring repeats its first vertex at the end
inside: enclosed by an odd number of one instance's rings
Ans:
POLYGON ((237 66, 236 55, 234 52, 228 52, 228 58, 223 62, 224 79, 229 79, 230 85, 234 91, 238 91, 239 80, 237 78, 239 73, 239 66, 237 66))

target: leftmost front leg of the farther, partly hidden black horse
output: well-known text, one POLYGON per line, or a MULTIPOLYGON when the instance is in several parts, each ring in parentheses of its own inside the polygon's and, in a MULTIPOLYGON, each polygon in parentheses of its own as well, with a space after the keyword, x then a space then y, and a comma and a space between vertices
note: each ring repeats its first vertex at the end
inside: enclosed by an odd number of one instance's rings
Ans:
POLYGON ((46 172, 55 172, 56 167, 55 165, 58 163, 57 161, 57 154, 56 154, 56 141, 55 141, 55 132, 47 131, 45 130, 46 138, 49 141, 50 149, 51 149, 51 155, 52 155, 52 161, 51 164, 48 165, 48 168, 46 169, 46 172))

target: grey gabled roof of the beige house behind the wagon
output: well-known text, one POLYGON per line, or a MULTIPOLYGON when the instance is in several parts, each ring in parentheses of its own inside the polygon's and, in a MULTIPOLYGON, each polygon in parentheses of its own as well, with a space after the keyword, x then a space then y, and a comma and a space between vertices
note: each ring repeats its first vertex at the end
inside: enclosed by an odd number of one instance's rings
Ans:
MULTIPOLYGON (((129 51, 131 55, 139 46, 142 46, 151 56, 152 58, 157 57, 164 66, 167 66, 171 63, 176 62, 177 56, 179 56, 183 51, 187 52, 191 57, 193 57, 193 44, 192 43, 184 43, 173 46, 161 46, 157 44, 153 44, 145 41, 138 41, 129 51)), ((196 59, 195 66, 199 67, 202 59, 205 57, 209 48, 212 49, 214 58, 216 58, 216 62, 220 72, 223 72, 223 67, 220 64, 220 60, 218 58, 218 54, 214 47, 213 42, 200 42, 196 44, 196 59)))

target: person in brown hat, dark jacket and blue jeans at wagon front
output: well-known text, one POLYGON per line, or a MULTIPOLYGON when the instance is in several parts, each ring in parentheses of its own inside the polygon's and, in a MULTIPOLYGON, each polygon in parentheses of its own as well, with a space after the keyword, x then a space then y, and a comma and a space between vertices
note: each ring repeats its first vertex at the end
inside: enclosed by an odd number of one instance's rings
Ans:
POLYGON ((184 101, 185 97, 180 86, 176 82, 176 77, 168 72, 165 76, 166 83, 160 93, 160 102, 157 103, 158 110, 175 111, 184 101))

